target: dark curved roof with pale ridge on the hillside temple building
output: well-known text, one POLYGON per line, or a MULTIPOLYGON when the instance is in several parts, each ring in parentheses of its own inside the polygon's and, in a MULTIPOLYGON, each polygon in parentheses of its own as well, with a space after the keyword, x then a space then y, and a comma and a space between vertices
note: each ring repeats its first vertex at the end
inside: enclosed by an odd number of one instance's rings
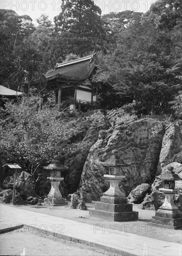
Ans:
POLYGON ((77 60, 56 64, 53 72, 46 76, 47 80, 61 78, 63 80, 84 81, 88 79, 95 67, 95 54, 77 60))

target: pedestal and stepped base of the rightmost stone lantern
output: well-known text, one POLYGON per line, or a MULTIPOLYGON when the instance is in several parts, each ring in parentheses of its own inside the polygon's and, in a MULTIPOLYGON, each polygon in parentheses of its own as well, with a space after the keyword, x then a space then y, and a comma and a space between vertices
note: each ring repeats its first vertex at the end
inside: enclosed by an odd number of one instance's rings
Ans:
POLYGON ((165 195, 163 205, 156 211, 155 216, 149 223, 161 228, 180 229, 182 228, 182 212, 173 202, 173 196, 178 189, 159 189, 165 195))

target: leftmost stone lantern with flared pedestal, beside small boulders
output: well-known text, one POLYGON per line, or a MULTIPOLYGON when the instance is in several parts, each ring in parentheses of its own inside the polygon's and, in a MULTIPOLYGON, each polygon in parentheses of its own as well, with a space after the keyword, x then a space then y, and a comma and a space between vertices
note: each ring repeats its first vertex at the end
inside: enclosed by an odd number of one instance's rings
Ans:
POLYGON ((44 166, 43 169, 50 170, 50 177, 47 177, 51 183, 51 189, 47 198, 44 199, 44 204, 49 205, 61 205, 65 203, 65 199, 63 199, 61 192, 59 190, 59 184, 63 181, 63 177, 61 177, 61 172, 68 170, 68 167, 65 167, 58 160, 58 156, 54 156, 54 159, 48 166, 44 166))

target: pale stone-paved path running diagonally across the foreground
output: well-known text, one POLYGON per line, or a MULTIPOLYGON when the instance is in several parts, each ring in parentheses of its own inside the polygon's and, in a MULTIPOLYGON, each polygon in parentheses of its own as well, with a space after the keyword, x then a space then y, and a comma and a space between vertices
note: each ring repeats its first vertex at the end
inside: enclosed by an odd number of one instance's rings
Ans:
MULTIPOLYGON (((0 228, 24 225, 28 230, 38 229, 54 236, 109 249, 115 253, 137 256, 181 256, 182 245, 138 236, 115 229, 103 229, 101 225, 89 225, 56 216, 0 205, 0 228)), ((170 232, 170 230, 169 230, 170 232)), ((25 232, 26 233, 26 232, 25 232)))

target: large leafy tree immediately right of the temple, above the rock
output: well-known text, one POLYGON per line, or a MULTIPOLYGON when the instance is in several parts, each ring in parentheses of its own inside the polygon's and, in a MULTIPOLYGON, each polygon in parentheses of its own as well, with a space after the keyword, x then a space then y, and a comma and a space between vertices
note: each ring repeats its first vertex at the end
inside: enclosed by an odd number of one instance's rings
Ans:
POLYGON ((156 20, 147 14, 121 30, 115 49, 98 61, 95 79, 108 82, 128 103, 135 98, 143 114, 168 112, 169 88, 177 83, 167 71, 174 65, 179 40, 174 44, 174 34, 157 28, 156 20))

